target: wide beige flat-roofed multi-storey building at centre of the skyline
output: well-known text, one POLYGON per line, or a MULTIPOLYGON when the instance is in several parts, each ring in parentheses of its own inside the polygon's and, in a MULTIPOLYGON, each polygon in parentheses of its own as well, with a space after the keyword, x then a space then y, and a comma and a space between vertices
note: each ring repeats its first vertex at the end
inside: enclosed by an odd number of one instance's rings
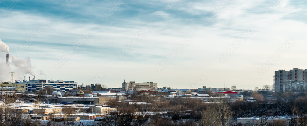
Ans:
POLYGON ((130 82, 126 82, 126 80, 124 80, 124 82, 122 82, 122 90, 155 90, 157 89, 158 84, 157 83, 153 83, 153 82, 143 82, 143 83, 136 83, 135 80, 134 81, 130 81, 130 82))

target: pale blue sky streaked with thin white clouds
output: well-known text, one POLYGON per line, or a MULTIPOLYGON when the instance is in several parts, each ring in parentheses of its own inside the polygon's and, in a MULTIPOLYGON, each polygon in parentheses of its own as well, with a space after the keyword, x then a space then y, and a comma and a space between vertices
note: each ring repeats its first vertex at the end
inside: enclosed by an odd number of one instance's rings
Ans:
POLYGON ((279 69, 307 69, 305 7, 298 0, 1 0, 0 39, 14 80, 255 89, 273 85, 279 69))

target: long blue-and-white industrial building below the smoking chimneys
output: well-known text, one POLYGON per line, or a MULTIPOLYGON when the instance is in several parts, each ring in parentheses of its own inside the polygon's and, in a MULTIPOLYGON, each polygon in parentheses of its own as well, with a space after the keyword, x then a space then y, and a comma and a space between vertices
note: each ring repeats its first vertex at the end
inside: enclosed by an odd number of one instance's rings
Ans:
MULTIPOLYGON (((30 77, 29 77, 30 78, 30 77)), ((78 83, 74 81, 63 81, 63 80, 35 80, 34 78, 32 80, 23 80, 22 82, 19 80, 15 81, 15 85, 19 86, 21 89, 21 86, 25 86, 25 91, 36 91, 41 90, 42 88, 45 88, 47 86, 50 86, 53 88, 53 91, 56 92, 65 92, 69 90, 76 89, 78 87, 78 83)), ((18 88, 17 88, 18 89, 18 88)))

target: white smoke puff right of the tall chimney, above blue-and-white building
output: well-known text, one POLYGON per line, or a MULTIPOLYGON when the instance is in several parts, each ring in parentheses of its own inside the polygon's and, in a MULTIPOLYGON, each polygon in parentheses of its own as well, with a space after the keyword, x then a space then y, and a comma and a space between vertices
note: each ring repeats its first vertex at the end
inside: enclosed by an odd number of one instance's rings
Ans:
POLYGON ((35 76, 34 72, 32 71, 32 64, 29 57, 26 57, 25 59, 19 59, 16 56, 12 56, 12 63, 18 68, 18 71, 21 72, 21 74, 31 74, 32 76, 35 76))

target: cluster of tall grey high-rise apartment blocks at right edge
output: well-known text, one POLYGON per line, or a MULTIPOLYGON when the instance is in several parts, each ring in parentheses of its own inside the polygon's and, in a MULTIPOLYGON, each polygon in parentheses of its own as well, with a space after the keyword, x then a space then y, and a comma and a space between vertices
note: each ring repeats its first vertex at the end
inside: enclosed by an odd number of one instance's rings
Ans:
POLYGON ((290 71, 275 71, 274 90, 276 92, 307 90, 307 69, 294 68, 290 71))

